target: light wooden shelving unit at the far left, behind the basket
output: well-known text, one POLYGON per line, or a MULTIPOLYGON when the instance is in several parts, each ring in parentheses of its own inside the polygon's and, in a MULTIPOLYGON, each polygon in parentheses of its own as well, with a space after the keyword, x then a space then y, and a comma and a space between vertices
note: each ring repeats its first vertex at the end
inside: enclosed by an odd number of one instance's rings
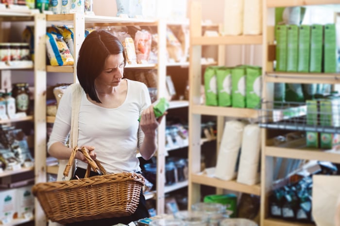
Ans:
MULTIPOLYGON (((24 173, 34 170, 34 182, 46 182, 46 62, 45 62, 45 35, 46 35, 46 15, 33 14, 32 11, 24 11, 22 13, 2 9, 0 10, 0 42, 8 42, 6 29, 2 22, 23 22, 34 24, 34 53, 38 57, 34 62, 27 62, 24 64, 17 64, 17 62, 9 62, 9 65, 0 67, 0 73, 10 74, 15 70, 34 70, 34 116, 27 116, 24 118, 1 120, 0 123, 20 123, 22 121, 33 121, 34 125, 34 167, 21 168, 13 171, 4 171, 0 173, 0 177, 15 176, 18 173, 24 173), (27 66, 29 65, 29 66, 27 66)), ((8 24, 7 24, 8 25, 8 24)), ((46 225, 46 218, 39 203, 35 201, 34 219, 17 219, 9 223, 9 225, 19 225, 26 222, 33 221, 35 225, 46 225)))

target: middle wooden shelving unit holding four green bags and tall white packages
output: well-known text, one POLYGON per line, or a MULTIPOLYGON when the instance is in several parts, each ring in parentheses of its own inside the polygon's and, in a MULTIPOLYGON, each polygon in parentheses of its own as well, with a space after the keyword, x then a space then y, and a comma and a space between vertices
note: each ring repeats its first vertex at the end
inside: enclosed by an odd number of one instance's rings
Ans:
MULTIPOLYGON (((227 189, 260 196, 261 186, 246 185, 236 180, 223 181, 213 175, 201 172, 201 117, 217 117, 217 151, 221 144, 221 136, 224 127, 224 118, 257 119, 258 112, 255 109, 207 106, 200 103, 202 67, 201 56, 203 45, 218 45, 219 51, 225 45, 252 45, 262 44, 262 35, 239 35, 239 36, 202 36, 202 5, 199 1, 191 1, 190 6, 190 65, 189 65, 189 181, 188 181, 188 206, 200 202, 201 185, 227 189)), ((222 53, 223 54, 223 53, 222 53)), ((223 59, 223 57, 221 57, 223 59)), ((220 60, 218 65, 224 65, 220 60)), ((221 191, 221 190, 220 190, 221 191)))

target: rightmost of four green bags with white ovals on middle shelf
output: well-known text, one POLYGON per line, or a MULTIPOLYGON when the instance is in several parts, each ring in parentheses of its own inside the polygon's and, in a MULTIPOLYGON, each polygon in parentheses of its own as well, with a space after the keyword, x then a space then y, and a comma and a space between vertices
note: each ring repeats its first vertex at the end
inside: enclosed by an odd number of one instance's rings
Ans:
POLYGON ((261 67, 246 68, 246 107, 256 108, 261 103, 262 91, 261 67))

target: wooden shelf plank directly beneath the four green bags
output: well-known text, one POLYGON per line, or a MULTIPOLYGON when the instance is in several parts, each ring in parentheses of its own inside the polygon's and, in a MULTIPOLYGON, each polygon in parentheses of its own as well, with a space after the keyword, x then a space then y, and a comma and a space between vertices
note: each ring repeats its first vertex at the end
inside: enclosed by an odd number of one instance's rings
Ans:
POLYGON ((191 110, 191 113, 193 114, 202 115, 237 117, 237 118, 258 117, 258 111, 256 109, 250 108, 192 105, 189 107, 189 110, 191 110))

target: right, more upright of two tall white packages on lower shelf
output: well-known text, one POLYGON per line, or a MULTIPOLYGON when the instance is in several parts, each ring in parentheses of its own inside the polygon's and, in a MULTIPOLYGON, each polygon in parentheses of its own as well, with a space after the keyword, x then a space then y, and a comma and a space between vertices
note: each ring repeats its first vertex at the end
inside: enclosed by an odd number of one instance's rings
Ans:
POLYGON ((244 127, 241 154, 239 157, 238 177, 239 183, 254 185, 259 182, 260 171, 261 133, 257 124, 244 127))

